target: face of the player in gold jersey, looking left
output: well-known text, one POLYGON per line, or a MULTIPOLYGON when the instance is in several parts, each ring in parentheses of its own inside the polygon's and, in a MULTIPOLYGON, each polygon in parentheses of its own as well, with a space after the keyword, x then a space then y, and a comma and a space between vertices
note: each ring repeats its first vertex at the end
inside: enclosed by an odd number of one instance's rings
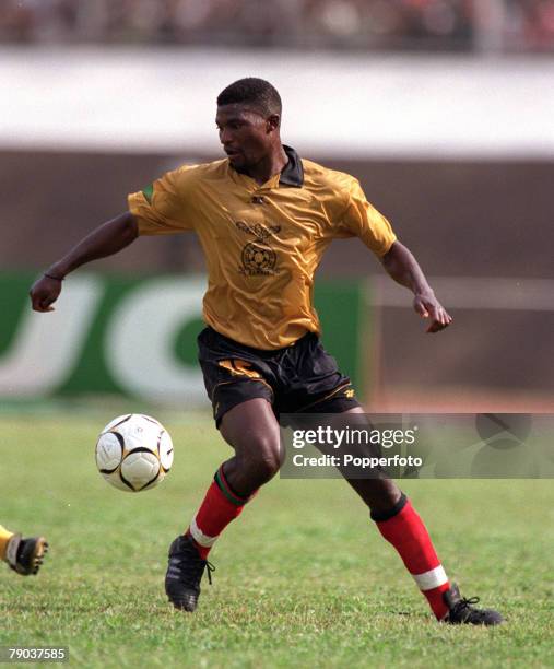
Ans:
POLYGON ((215 125, 231 164, 245 171, 271 152, 279 117, 264 118, 246 105, 223 105, 217 107, 215 125))

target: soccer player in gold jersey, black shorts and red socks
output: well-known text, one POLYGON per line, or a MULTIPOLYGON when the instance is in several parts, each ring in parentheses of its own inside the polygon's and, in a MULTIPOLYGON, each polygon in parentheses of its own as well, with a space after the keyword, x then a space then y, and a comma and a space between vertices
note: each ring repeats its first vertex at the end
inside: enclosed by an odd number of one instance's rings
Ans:
MULTIPOLYGON (((208 555, 225 527, 280 468, 280 413, 363 413, 350 379, 319 340, 311 295, 328 245, 357 236, 393 280, 410 289, 427 332, 451 318, 389 222, 359 183, 302 159, 280 137, 281 98, 248 78, 217 97, 215 122, 226 157, 185 165, 129 196, 129 210, 93 231, 31 290, 33 308, 52 309, 63 279, 115 254, 138 235, 195 231, 208 266, 207 328, 199 360, 215 424, 234 456, 215 472, 186 532, 169 548, 165 588, 193 611, 208 555)), ((437 620, 494 625, 448 580, 410 501, 388 478, 349 480, 378 530, 400 554, 437 620)))

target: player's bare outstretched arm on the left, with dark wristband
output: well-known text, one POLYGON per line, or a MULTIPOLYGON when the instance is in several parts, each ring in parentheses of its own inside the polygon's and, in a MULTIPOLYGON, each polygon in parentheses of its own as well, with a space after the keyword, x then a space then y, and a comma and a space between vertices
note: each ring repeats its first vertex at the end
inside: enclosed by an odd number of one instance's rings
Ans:
POLYGON ((51 306, 61 292, 61 282, 78 267, 117 254, 139 236, 135 218, 126 212, 107 221, 86 235, 61 260, 51 265, 31 287, 31 304, 35 312, 54 312, 51 306))

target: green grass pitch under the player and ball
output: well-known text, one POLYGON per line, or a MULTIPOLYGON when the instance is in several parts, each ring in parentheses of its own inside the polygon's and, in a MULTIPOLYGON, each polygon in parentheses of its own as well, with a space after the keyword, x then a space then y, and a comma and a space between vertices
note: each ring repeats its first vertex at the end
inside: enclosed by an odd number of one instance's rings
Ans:
POLYGON ((554 666, 551 481, 410 481, 443 563, 499 629, 437 624, 342 481, 266 486, 215 545, 196 614, 174 611, 167 548, 229 455, 208 418, 160 415, 176 446, 161 486, 95 470, 111 415, 0 416, 0 523, 45 533, 40 574, 0 570, 0 645, 63 645, 83 667, 554 666))

